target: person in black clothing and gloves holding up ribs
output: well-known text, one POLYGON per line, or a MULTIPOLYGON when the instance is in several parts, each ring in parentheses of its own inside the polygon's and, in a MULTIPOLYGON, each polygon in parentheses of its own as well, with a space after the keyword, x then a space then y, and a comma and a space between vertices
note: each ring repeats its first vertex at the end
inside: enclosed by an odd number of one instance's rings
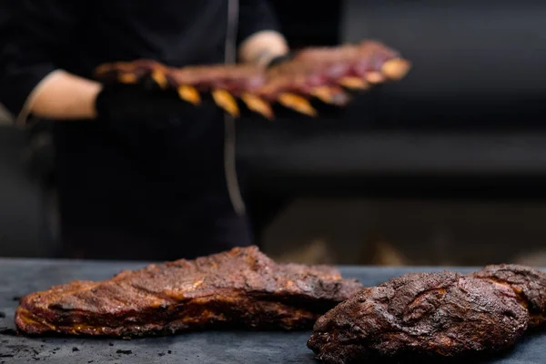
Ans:
POLYGON ((62 257, 196 258, 252 244, 234 120, 94 80, 97 66, 253 63, 289 53, 267 0, 2 0, 0 103, 53 125, 62 257))

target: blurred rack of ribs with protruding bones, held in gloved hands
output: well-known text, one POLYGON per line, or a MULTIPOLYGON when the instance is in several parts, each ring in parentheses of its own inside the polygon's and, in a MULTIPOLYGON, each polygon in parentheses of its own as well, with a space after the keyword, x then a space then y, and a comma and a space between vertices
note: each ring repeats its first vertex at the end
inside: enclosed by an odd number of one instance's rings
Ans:
POLYGON ((180 98, 199 105, 210 94, 216 105, 239 116, 238 100, 249 110, 274 118, 272 103, 308 116, 317 116, 309 102, 319 100, 346 106, 350 91, 399 80, 410 71, 410 62, 376 41, 357 45, 308 47, 287 62, 269 68, 249 65, 169 67, 152 60, 115 62, 96 68, 96 79, 105 83, 139 84, 153 80, 164 89, 177 90, 180 98))

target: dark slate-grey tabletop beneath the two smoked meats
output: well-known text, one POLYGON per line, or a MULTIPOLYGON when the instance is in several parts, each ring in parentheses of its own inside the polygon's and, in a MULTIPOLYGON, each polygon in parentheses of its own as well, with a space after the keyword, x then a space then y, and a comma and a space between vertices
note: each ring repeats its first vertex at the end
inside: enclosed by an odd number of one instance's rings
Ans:
MULTIPOLYGON (((0 364, 45 363, 315 363, 310 332, 201 332, 154 339, 27 339, 15 335, 18 298, 73 279, 100 280, 144 263, 0 259, 0 364)), ((441 268, 341 268, 365 286, 409 270, 441 268)), ((469 268, 456 268, 467 272, 469 268)), ((488 364, 544 364, 546 329, 528 334, 511 353, 488 364)))

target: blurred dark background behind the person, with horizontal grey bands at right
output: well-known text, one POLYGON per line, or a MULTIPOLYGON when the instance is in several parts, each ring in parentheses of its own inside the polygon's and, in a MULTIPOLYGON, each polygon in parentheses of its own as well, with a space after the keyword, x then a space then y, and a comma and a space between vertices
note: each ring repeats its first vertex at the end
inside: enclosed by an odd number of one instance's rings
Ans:
MULTIPOLYGON (((375 38, 414 68, 340 116, 238 122, 238 166, 266 253, 546 267, 546 3, 272 4, 293 47, 375 38)), ((16 129, 0 110, 0 257, 56 255, 50 143, 47 125, 16 129)))

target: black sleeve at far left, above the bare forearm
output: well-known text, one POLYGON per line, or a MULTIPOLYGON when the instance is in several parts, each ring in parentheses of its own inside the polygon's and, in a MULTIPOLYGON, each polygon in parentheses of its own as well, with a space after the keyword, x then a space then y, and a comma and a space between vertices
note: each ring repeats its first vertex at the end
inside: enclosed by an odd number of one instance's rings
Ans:
POLYGON ((0 0, 0 103, 15 116, 25 113, 30 96, 59 68, 85 3, 0 0))

